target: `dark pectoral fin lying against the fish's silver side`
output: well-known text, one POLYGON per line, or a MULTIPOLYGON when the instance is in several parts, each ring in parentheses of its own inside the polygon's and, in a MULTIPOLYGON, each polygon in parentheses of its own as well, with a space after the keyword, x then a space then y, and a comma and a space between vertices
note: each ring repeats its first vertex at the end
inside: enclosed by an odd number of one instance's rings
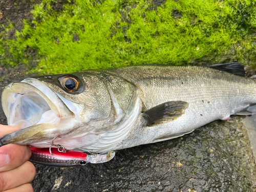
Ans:
POLYGON ((185 113, 188 103, 185 101, 169 101, 155 106, 143 113, 147 126, 158 126, 174 121, 185 113))

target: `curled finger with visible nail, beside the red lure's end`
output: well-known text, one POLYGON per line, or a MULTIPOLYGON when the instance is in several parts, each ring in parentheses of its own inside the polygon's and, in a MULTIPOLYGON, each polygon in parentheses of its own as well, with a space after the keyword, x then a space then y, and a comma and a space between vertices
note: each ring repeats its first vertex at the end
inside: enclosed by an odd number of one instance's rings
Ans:
POLYGON ((30 156, 31 150, 29 146, 8 144, 0 147, 0 172, 22 165, 29 160, 30 156))

